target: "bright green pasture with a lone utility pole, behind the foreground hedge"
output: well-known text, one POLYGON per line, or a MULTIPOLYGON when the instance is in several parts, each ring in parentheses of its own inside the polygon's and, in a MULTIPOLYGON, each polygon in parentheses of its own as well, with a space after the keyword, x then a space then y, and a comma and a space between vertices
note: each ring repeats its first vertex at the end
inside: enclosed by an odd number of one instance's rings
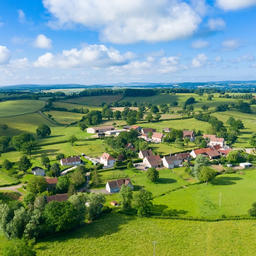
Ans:
POLYGON ((154 199, 155 214, 191 217, 246 215, 255 202, 256 169, 217 176, 208 185, 188 186, 154 199), (221 193, 221 207, 220 204, 221 193), (167 203, 169 201, 169 203, 167 203))

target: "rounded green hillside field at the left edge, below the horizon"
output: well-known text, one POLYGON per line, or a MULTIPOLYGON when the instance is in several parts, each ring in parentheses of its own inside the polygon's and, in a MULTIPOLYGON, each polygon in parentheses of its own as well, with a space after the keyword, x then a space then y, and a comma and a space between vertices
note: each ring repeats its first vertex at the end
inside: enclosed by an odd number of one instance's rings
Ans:
POLYGON ((41 100, 8 100, 0 102, 0 117, 18 116, 36 112, 43 108, 41 100))

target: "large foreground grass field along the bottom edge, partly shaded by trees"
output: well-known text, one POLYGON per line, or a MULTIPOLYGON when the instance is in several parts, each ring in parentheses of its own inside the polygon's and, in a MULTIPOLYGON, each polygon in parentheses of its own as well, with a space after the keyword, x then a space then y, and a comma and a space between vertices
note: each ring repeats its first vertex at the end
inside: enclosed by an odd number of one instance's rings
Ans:
MULTIPOLYGON (((252 255, 255 221, 197 222, 103 214, 62 235, 40 240, 37 255, 252 255), (97 246, 95 246, 97 245, 97 246)), ((2 237, 1 246, 6 243, 2 237)))

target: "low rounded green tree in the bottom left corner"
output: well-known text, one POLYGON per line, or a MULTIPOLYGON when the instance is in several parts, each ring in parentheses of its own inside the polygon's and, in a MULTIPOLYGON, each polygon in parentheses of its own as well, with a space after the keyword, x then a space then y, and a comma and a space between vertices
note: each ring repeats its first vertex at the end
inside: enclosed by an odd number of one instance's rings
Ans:
POLYGON ((27 244, 25 239, 13 239, 3 248, 3 256, 35 256, 31 243, 27 244))

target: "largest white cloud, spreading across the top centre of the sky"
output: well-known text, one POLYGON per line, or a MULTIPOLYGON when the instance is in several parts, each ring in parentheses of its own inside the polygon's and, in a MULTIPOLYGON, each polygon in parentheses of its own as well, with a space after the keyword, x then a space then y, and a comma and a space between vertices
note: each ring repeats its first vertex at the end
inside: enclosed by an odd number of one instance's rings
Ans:
POLYGON ((43 4, 56 18, 50 26, 83 25, 116 44, 184 38, 202 20, 199 11, 179 0, 44 0, 43 4))

